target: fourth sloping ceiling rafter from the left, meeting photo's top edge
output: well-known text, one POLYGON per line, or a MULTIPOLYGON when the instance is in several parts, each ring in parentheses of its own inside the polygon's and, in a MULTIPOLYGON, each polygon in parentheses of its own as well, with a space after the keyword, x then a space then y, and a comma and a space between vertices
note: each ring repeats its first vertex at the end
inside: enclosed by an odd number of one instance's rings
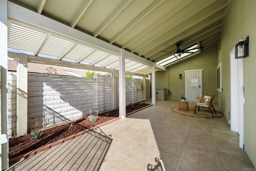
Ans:
POLYGON ((164 0, 156 0, 153 4, 151 4, 146 10, 144 10, 140 15, 138 15, 132 22, 127 24, 124 28, 122 28, 115 36, 110 39, 110 43, 112 44, 118 38, 120 38, 123 34, 125 34, 132 26, 142 20, 147 14, 149 14, 152 10, 154 10, 158 5, 160 5, 164 0))

